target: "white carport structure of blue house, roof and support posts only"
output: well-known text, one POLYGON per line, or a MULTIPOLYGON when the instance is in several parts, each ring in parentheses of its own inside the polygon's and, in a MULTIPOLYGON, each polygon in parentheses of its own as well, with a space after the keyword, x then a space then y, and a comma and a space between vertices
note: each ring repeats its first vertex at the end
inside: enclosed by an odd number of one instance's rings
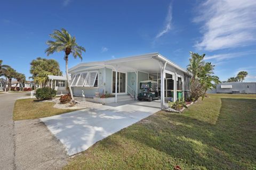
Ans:
MULTIPOLYGON (((188 75, 190 77, 190 73, 188 73, 185 69, 174 64, 167 58, 163 57, 159 53, 150 53, 143 54, 138 56, 130 56, 125 58, 118 58, 115 60, 109 61, 101 61, 101 62, 91 62, 91 63, 81 63, 78 64, 71 69, 72 71, 85 71, 91 69, 100 69, 102 67, 107 67, 113 69, 116 73, 116 83, 115 83, 115 99, 117 102, 117 72, 135 72, 137 75, 137 83, 138 82, 138 72, 149 73, 160 73, 161 81, 165 82, 165 75, 171 74, 173 79, 173 100, 177 100, 177 80, 181 79, 181 82, 184 82, 184 75, 188 75), (81 68, 81 69, 80 69, 81 68)), ((182 89, 184 90, 184 83, 182 83, 182 89)), ((136 89, 136 94, 138 94, 138 86, 136 89)), ((164 106, 165 101, 165 83, 161 83, 161 108, 164 106)))

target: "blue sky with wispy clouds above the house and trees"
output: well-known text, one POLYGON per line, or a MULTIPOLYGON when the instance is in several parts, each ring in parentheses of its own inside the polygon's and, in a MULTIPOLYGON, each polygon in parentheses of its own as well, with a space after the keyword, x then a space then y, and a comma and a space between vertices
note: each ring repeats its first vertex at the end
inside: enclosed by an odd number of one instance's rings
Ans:
MULTIPOLYGON (((49 34, 65 28, 86 48, 82 62, 159 52, 186 67, 193 51, 221 80, 245 70, 245 81, 256 81, 255 9, 255 0, 3 1, 0 59, 27 78, 36 57, 54 58, 64 73, 64 54, 44 50, 49 34)), ((70 57, 69 67, 80 62, 70 57)))

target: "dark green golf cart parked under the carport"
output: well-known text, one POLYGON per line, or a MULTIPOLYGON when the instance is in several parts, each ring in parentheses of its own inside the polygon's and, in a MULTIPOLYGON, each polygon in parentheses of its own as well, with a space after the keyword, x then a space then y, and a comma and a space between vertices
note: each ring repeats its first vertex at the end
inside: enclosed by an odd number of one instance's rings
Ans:
POLYGON ((158 86, 156 81, 141 81, 141 92, 138 94, 138 100, 152 101, 158 99, 158 86))

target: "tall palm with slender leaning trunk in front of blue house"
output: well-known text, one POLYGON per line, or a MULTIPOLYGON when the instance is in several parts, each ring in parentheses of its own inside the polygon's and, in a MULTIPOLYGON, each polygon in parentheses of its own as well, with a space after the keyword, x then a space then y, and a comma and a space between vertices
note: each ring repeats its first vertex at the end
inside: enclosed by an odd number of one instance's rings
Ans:
POLYGON ((46 42, 49 47, 45 50, 45 53, 47 54, 47 56, 49 56, 50 54, 53 54, 55 52, 65 52, 64 60, 66 61, 68 88, 72 102, 75 103, 68 76, 68 55, 72 53, 74 58, 79 57, 82 61, 82 52, 85 52, 85 48, 82 46, 78 46, 78 44, 76 43, 76 38, 71 37, 68 31, 63 28, 61 30, 54 30, 53 33, 50 34, 50 37, 53 38, 54 41, 50 40, 46 42))

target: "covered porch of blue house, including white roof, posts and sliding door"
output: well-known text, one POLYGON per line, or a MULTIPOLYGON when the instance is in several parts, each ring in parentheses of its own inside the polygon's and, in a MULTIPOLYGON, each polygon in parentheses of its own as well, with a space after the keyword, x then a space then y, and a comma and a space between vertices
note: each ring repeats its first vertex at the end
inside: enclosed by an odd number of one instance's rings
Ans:
MULTIPOLYGON (((186 97, 186 90, 189 90, 190 74, 159 53, 118 58, 102 62, 81 63, 72 69, 82 67, 86 67, 88 70, 102 68, 112 70, 110 78, 111 94, 115 95, 116 103, 118 102, 118 95, 121 94, 127 94, 133 99, 137 99, 138 94, 141 92, 139 83, 145 80, 157 82, 161 108, 163 108, 167 100, 176 101, 178 95, 186 97)), ((101 72, 99 73, 101 74, 101 72)), ((106 74, 106 72, 102 72, 102 74, 106 74)), ((102 78, 103 85, 109 81, 106 75, 103 75, 102 78)), ((105 89, 105 85, 103 88, 105 89)), ((103 91, 105 92, 105 90, 103 91)))

